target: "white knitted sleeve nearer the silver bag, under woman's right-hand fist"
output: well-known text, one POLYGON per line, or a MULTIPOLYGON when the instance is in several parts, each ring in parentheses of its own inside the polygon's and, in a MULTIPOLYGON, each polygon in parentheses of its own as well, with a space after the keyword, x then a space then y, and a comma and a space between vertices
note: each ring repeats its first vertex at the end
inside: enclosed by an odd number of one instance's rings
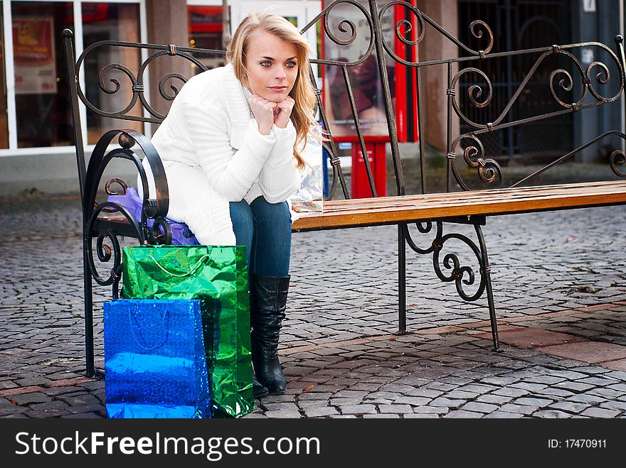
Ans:
POLYGON ((278 203, 294 195, 300 185, 300 176, 293 157, 296 129, 290 121, 285 129, 273 126, 272 133, 276 143, 261 169, 259 186, 265 200, 278 203))

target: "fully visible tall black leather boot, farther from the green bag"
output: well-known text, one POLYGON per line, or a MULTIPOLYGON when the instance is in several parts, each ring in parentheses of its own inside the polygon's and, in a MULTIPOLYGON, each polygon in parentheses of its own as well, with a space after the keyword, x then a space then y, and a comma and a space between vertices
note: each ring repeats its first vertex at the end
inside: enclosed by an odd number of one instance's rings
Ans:
POLYGON ((252 363, 258 381, 272 393, 283 393, 287 379, 278 360, 278 339, 287 308, 289 276, 250 275, 252 363))

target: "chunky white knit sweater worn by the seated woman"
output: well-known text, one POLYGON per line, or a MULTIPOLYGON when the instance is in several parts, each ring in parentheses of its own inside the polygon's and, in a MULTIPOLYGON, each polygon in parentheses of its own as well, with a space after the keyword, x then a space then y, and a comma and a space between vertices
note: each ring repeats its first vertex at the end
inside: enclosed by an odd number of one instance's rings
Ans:
MULTIPOLYGON (((209 200, 203 200, 204 190, 176 220, 191 224, 189 217, 194 217, 192 230, 202 244, 234 245, 229 202, 250 203, 259 196, 284 202, 297 192, 295 138, 291 121, 285 129, 273 126, 269 135, 260 134, 232 65, 192 77, 152 137, 166 175, 172 164, 184 164, 206 177, 209 200)), ((173 183, 184 181, 168 177, 170 193, 176 192, 173 183)))

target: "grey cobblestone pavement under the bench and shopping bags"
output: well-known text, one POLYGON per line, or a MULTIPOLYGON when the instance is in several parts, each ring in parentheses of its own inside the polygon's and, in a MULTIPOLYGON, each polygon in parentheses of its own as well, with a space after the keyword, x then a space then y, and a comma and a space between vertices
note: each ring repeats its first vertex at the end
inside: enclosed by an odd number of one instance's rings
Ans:
MULTIPOLYGON (((74 197, 0 202, 0 417, 105 415, 104 381, 84 374, 80 223, 74 197)), ((396 334, 396 227, 295 234, 289 385, 245 418, 623 418, 625 227, 626 207, 488 219, 499 353, 486 300, 460 299, 410 249, 408 333, 396 334)), ((97 293, 102 369, 110 290, 97 293)))

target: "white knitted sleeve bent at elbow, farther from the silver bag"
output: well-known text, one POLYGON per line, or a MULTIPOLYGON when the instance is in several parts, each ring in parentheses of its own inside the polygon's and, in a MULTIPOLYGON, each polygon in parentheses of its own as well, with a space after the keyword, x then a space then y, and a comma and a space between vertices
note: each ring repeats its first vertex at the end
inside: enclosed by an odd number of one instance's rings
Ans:
POLYGON ((252 119, 241 148, 230 146, 228 116, 217 106, 186 105, 184 119, 189 141, 211 187, 229 202, 238 202, 257 182, 275 143, 274 134, 262 135, 252 119))

